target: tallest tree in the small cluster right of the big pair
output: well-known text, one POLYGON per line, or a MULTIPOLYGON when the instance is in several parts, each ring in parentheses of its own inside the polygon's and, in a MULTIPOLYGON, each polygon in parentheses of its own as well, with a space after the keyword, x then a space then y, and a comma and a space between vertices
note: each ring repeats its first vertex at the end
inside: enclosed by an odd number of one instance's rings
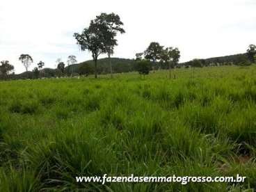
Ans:
POLYGON ((163 46, 159 45, 159 42, 151 42, 150 46, 144 51, 145 59, 148 59, 156 65, 157 61, 161 59, 163 46))

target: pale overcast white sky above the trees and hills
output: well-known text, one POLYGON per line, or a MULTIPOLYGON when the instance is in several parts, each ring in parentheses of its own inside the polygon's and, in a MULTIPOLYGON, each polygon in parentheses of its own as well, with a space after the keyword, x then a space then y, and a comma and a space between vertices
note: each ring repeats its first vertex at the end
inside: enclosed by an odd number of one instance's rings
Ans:
MULTIPOLYGON (((24 72, 20 54, 34 63, 56 67, 57 58, 91 59, 80 51, 74 33, 100 13, 120 15, 125 34, 118 35, 113 57, 135 58, 150 42, 178 47, 180 61, 239 54, 256 44, 256 0, 1 0, 0 60, 24 72)), ((104 58, 106 55, 100 56, 104 58)))

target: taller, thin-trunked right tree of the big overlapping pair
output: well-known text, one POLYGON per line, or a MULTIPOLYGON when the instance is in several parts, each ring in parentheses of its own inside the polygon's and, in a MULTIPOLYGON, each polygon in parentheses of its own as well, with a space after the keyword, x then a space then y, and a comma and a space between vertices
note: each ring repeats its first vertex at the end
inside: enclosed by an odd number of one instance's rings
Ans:
POLYGON ((111 63, 111 55, 113 55, 113 50, 116 45, 118 45, 117 40, 115 39, 115 36, 118 33, 125 33, 125 29, 122 28, 123 23, 120 20, 119 15, 115 15, 115 13, 102 13, 101 15, 98 15, 95 19, 95 23, 104 25, 107 27, 108 31, 112 34, 109 40, 106 40, 106 52, 109 57, 109 67, 111 72, 111 77, 113 74, 112 70, 112 63, 111 63))

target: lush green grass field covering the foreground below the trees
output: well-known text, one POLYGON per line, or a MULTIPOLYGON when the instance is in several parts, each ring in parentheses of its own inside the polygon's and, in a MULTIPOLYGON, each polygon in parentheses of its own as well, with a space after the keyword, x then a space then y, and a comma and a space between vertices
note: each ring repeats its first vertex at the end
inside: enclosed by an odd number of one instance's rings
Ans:
POLYGON ((0 191, 256 188, 256 66, 0 82, 0 191), (246 176, 243 184, 75 176, 246 176))

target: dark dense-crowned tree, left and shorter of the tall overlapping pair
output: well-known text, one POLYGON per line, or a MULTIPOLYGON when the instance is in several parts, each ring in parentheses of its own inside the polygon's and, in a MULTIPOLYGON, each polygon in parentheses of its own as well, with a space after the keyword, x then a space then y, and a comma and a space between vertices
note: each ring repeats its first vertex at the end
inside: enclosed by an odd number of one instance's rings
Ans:
POLYGON ((99 24, 95 21, 90 22, 90 26, 83 29, 82 33, 74 33, 74 38, 82 51, 88 50, 92 53, 95 62, 95 78, 97 78, 97 59, 100 54, 106 54, 106 44, 114 39, 113 33, 110 33, 105 24, 99 24))

